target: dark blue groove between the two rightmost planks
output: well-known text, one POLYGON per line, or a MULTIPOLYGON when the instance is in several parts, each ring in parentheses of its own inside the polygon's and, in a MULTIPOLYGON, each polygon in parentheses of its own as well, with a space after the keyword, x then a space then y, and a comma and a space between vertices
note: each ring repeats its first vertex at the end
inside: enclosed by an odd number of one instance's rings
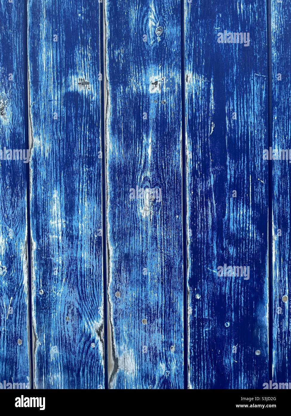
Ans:
MULTIPOLYGON (((272 26, 271 0, 267 0, 268 49, 268 149, 273 143, 272 122, 272 26)), ((269 380, 273 379, 273 161, 268 161, 268 289, 269 289, 269 380)))

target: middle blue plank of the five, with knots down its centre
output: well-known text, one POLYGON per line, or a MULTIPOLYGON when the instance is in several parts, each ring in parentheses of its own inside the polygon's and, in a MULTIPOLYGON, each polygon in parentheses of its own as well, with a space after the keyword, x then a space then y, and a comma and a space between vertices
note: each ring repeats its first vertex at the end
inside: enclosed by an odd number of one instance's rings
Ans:
POLYGON ((109 388, 182 388, 181 4, 106 0, 105 25, 109 388))

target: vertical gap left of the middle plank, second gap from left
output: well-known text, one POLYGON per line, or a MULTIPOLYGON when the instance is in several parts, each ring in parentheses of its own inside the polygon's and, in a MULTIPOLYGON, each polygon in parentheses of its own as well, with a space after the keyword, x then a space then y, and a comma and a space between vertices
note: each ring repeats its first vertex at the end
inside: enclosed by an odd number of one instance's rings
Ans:
POLYGON ((100 82, 100 136, 101 136, 101 163, 102 163, 102 255, 103 255, 103 326, 104 326, 104 383, 105 389, 108 389, 108 337, 107 337, 107 228, 106 228, 106 149, 105 149, 105 36, 104 36, 104 25, 105 25, 105 0, 98 2, 99 5, 99 33, 100 33, 100 74, 102 74, 102 81, 100 82))

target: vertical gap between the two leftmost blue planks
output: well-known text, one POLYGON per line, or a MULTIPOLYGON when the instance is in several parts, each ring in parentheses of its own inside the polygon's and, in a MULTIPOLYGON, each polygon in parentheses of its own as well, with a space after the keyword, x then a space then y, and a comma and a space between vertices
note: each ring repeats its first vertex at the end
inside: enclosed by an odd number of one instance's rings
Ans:
MULTIPOLYGON (((24 85, 24 100, 25 100, 25 143, 26 149, 29 149, 30 162, 30 141, 29 141, 29 69, 28 69, 28 2, 24 1, 24 45, 23 45, 23 59, 24 68, 26 68, 27 82, 24 85)), ((27 217, 27 291, 28 291, 28 351, 29 351, 29 384, 30 389, 34 389, 34 366, 33 366, 33 342, 32 342, 32 258, 31 258, 31 227, 30 227, 30 163, 26 163, 26 217, 27 217)))

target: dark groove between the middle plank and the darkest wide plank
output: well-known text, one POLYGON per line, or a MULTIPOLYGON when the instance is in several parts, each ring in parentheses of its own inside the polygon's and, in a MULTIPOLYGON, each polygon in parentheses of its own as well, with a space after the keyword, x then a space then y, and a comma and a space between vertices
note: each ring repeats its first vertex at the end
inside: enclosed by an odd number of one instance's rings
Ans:
POLYGON ((182 233, 183 233, 183 322, 184 389, 188 389, 188 294, 187 294, 187 200, 186 200, 186 114, 185 114, 185 23, 184 0, 181 0, 181 98, 182 98, 182 233))

